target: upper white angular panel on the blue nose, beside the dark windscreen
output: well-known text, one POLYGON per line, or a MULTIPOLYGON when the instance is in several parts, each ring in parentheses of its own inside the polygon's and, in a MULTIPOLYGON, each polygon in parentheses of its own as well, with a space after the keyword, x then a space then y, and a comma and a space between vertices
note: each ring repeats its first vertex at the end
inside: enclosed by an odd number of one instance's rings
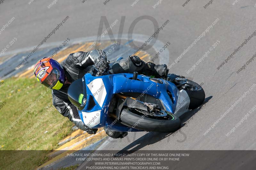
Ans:
POLYGON ((89 83, 87 86, 92 92, 92 95, 94 96, 95 100, 98 102, 100 107, 102 107, 107 95, 107 91, 102 78, 96 78, 92 80, 92 82, 89 83))

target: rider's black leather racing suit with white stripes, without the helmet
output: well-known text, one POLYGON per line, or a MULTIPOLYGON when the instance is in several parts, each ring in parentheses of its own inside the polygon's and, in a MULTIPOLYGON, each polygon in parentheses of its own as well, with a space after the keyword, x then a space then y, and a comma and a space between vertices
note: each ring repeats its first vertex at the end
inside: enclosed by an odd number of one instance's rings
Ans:
MULTIPOLYGON (((87 53, 80 51, 68 55, 68 57, 60 64, 65 70, 67 80, 72 83, 76 79, 82 78, 86 73, 95 75, 98 72, 95 65, 99 65, 99 63, 97 63, 99 58, 107 61, 106 53, 103 50, 92 50, 87 53)), ((124 72, 133 73, 134 71, 137 71, 139 74, 144 75, 163 76, 164 71, 167 68, 166 65, 156 65, 140 60, 138 56, 128 56, 110 63, 109 65, 109 70, 112 69, 111 71, 114 74, 124 72)), ((53 106, 61 115, 68 117, 70 121, 74 122, 77 128, 88 132, 88 127, 81 121, 76 107, 68 100, 67 92, 69 85, 70 84, 64 84, 60 90, 52 90, 53 106)), ((115 136, 115 138, 117 138, 118 134, 116 133, 117 132, 115 131, 111 131, 107 134, 110 137, 115 136)))

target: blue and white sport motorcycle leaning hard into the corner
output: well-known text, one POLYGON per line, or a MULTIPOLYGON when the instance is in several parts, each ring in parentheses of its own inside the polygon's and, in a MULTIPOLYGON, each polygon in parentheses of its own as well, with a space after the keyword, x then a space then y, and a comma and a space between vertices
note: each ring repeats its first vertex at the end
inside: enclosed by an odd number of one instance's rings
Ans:
POLYGON ((204 102, 200 85, 168 70, 165 78, 110 72, 86 74, 68 88, 69 100, 90 128, 174 132, 181 126, 179 117, 204 102))

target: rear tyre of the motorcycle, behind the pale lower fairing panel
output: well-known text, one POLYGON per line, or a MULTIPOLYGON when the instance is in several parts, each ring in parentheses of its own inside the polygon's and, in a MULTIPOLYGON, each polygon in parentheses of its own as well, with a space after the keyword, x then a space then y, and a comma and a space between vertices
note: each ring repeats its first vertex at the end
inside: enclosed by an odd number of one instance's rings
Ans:
POLYGON ((197 83, 187 80, 185 85, 181 86, 181 89, 184 89, 190 98, 189 109, 195 109, 199 107, 205 99, 204 89, 197 83))

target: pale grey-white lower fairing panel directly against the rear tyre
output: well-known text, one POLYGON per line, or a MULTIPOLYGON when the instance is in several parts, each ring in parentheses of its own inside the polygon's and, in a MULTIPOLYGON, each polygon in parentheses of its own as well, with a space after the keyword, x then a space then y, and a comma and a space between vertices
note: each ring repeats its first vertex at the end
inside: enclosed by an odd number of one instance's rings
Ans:
POLYGON ((190 103, 190 99, 188 97, 188 93, 183 89, 180 90, 178 92, 178 101, 177 101, 174 115, 181 116, 185 112, 187 112, 189 103, 190 103))

